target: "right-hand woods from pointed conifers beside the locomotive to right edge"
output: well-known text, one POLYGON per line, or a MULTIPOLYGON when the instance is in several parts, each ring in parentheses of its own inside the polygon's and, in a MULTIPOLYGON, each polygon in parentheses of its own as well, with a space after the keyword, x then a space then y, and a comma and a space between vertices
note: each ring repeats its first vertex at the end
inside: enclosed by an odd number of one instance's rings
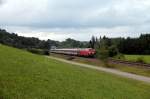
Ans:
MULTIPOLYGON (((114 56, 117 53, 150 55, 150 34, 141 34, 137 38, 108 38, 92 37, 90 47, 95 48, 97 52, 108 52, 108 55, 114 56)), ((101 53, 100 52, 100 53, 101 53)))

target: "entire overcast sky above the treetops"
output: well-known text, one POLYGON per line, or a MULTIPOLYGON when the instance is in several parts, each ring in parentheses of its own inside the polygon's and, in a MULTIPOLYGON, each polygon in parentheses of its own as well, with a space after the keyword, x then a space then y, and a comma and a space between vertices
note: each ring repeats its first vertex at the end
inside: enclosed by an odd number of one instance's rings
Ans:
POLYGON ((150 0, 0 0, 0 28, 42 40, 138 37, 150 33, 150 0))

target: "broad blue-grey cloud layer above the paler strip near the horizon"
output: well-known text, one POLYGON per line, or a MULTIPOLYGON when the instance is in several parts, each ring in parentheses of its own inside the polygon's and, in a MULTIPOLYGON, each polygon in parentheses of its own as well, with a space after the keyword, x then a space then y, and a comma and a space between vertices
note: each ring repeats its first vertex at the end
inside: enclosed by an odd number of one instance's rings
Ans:
POLYGON ((0 18, 4 24, 37 28, 116 27, 150 18, 148 0, 119 1, 12 0, 0 10, 5 13, 0 18))

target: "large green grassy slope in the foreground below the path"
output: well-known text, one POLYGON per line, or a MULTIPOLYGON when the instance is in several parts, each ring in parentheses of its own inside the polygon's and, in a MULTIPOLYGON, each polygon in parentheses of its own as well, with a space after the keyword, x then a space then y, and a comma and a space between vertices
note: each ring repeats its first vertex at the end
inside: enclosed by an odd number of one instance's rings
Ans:
POLYGON ((0 99, 150 99, 150 84, 0 45, 0 99))

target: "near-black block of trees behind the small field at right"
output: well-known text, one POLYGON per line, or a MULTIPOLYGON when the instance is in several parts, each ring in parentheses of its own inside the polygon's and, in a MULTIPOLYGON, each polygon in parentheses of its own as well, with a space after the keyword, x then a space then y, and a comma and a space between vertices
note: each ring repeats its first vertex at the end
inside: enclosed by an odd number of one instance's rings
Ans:
POLYGON ((124 54, 150 54, 150 34, 142 34, 139 38, 122 39, 118 44, 119 52, 124 54))

